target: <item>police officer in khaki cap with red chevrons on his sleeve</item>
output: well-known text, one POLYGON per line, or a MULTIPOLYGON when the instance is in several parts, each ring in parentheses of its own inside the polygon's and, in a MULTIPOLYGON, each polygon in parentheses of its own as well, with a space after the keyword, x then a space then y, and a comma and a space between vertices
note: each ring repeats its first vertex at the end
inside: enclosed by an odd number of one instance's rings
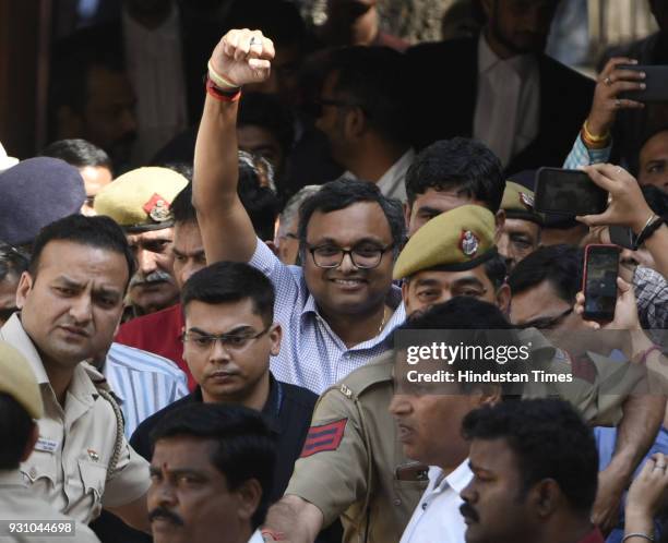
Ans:
MULTIPOLYGON (((493 239, 494 216, 474 205, 441 214, 420 228, 394 267, 394 278, 405 279, 402 292, 407 314, 455 295, 473 295, 506 307, 505 266, 493 239)), ((526 330, 522 340, 532 341, 532 362, 537 367, 570 372, 568 361, 537 330, 526 330)), ((344 542, 399 540, 426 487, 427 471, 403 455, 387 411, 393 362, 387 353, 320 397, 285 496, 270 509, 265 541, 284 536, 293 543, 311 543, 320 528, 336 516, 344 526, 344 542)), ((562 393, 586 408, 588 420, 612 424, 620 415, 615 408, 623 396, 600 398, 598 385, 529 388, 526 395, 562 393), (603 401, 615 405, 604 406, 603 401)), ((637 423, 632 418, 624 422, 637 423)))

